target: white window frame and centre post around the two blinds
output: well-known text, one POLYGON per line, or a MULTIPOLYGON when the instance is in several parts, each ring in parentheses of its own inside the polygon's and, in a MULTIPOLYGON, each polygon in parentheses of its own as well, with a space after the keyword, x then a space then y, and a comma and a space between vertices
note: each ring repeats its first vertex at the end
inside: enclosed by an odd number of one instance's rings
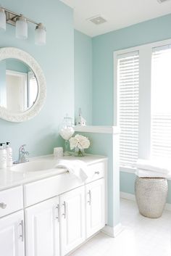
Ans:
MULTIPOLYGON (((151 154, 151 54, 152 49, 158 46, 171 44, 171 38, 157 41, 151 44, 117 50, 113 53, 114 63, 114 116, 113 124, 119 125, 119 85, 117 85, 117 55, 139 51, 139 136, 138 136, 138 158, 149 159, 151 154), (144 104, 146 102, 146 104, 144 104), (146 124, 146 125, 144 125, 146 124)), ((135 168, 120 166, 120 171, 135 173, 135 168)))

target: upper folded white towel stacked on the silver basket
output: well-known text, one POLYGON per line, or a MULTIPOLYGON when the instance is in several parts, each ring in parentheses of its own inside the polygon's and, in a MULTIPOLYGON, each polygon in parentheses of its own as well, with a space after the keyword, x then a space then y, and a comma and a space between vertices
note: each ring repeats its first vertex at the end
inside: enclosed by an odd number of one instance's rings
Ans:
POLYGON ((138 169, 151 170, 156 173, 164 173, 167 175, 171 172, 171 161, 138 159, 136 167, 138 169))

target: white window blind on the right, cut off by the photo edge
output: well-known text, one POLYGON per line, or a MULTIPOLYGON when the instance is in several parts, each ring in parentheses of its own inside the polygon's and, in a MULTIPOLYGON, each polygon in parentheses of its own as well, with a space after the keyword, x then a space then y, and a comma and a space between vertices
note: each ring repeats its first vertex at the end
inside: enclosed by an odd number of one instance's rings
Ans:
POLYGON ((151 60, 151 157, 171 158, 171 49, 153 49, 151 60))

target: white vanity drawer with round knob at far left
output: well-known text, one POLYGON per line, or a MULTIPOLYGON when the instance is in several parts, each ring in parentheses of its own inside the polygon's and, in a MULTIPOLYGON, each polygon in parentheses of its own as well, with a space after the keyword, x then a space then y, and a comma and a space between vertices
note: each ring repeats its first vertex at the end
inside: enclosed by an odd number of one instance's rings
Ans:
POLYGON ((22 186, 0 191, 0 217, 22 209, 22 186))

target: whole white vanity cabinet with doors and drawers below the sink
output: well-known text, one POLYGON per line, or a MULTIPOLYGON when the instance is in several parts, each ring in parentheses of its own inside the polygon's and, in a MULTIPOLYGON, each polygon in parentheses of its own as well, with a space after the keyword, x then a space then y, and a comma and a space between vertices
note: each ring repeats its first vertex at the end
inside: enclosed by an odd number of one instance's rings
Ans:
POLYGON ((85 161, 85 182, 54 170, 0 191, 0 256, 68 255, 104 228, 107 158, 85 161))

